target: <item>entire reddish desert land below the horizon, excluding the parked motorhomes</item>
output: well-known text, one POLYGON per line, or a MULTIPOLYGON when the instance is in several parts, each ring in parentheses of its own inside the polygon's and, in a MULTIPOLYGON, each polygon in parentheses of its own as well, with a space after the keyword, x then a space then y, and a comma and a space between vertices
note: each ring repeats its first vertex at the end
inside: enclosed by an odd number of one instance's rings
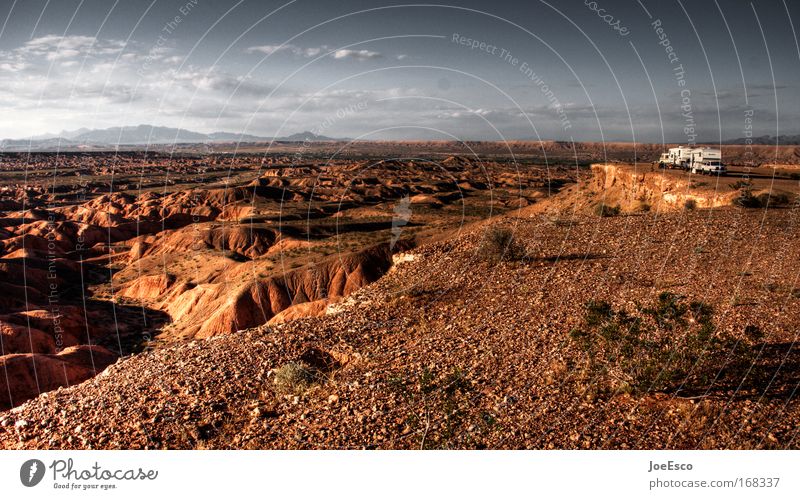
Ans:
POLYGON ((800 155, 660 152, 2 155, 0 446, 797 448, 800 155))

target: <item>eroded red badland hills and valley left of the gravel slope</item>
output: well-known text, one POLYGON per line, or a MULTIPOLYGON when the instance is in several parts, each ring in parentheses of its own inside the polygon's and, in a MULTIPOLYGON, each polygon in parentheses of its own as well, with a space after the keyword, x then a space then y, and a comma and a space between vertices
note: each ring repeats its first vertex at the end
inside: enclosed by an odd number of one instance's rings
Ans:
POLYGON ((0 410, 145 347, 323 313, 416 240, 574 179, 305 153, 0 155, 0 410))

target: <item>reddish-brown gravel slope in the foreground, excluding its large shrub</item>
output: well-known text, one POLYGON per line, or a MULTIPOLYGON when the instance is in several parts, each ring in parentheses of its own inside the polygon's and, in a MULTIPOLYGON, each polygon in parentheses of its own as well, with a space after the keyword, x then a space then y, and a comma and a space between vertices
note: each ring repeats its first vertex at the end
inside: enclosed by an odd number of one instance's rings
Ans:
POLYGON ((0 413, 0 446, 797 448, 798 214, 534 205, 396 255, 326 315, 137 354, 0 413), (487 253, 498 228, 513 258, 487 253), (718 358, 657 390, 625 354, 590 369, 587 303, 636 314, 664 292, 705 304, 718 358))

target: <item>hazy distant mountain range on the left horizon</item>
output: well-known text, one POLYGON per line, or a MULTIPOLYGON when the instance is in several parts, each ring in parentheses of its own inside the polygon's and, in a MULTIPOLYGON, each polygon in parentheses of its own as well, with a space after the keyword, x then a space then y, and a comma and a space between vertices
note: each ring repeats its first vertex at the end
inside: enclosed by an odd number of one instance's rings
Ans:
POLYGON ((114 148, 117 146, 208 144, 221 142, 335 142, 335 139, 312 132, 300 132, 286 137, 259 137, 232 132, 200 133, 183 128, 168 128, 152 125, 113 127, 90 130, 65 130, 59 134, 48 134, 27 139, 0 140, 0 151, 50 151, 73 149, 114 148))

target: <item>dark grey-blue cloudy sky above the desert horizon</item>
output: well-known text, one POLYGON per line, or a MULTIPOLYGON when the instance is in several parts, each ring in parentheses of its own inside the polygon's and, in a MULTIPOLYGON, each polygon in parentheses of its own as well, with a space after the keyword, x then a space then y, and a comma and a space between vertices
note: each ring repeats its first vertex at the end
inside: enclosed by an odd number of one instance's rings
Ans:
POLYGON ((789 0, 0 0, 0 137, 800 133, 789 0))

